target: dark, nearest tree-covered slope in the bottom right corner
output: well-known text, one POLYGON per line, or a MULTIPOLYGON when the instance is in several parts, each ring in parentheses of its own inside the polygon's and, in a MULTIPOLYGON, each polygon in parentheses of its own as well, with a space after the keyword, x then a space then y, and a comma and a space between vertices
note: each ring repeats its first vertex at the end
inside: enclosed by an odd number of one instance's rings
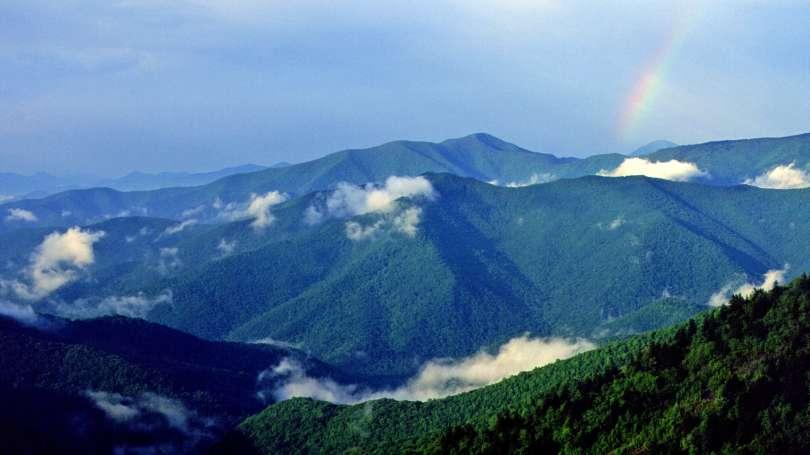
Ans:
POLYGON ((810 278, 735 298, 528 412, 446 431, 428 453, 803 453, 810 449, 810 278))

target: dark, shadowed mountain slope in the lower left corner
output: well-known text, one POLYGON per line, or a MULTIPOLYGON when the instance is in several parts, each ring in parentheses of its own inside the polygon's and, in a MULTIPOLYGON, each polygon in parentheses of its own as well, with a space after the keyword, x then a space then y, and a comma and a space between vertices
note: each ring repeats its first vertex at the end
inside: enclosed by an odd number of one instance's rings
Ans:
POLYGON ((0 446, 9 453, 188 451, 265 406, 259 375, 283 358, 341 375, 289 349, 123 317, 23 325, 0 316, 0 350, 0 446))

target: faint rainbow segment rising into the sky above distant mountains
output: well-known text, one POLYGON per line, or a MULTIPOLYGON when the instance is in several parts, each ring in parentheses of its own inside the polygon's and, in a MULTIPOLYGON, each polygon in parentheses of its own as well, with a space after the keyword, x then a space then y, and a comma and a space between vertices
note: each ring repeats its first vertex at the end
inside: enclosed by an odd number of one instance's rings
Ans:
POLYGON ((652 111, 665 74, 672 66, 695 19, 695 15, 675 19, 664 43, 644 66, 644 71, 622 104, 618 125, 618 135, 622 140, 626 141, 632 136, 638 124, 652 111))

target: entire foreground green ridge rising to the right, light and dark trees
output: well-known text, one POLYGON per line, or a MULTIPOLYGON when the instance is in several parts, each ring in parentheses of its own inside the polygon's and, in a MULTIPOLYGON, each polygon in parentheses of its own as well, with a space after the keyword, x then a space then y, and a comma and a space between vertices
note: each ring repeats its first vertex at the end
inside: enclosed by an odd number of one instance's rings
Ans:
POLYGON ((808 302, 803 276, 443 400, 275 404, 230 440, 260 453, 804 453, 808 302))

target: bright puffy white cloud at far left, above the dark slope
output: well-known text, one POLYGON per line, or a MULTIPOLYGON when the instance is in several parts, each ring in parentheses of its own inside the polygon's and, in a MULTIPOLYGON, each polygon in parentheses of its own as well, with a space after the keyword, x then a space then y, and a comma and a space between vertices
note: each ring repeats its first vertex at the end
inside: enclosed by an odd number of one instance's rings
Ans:
POLYGON ((95 262, 93 245, 103 237, 103 231, 84 231, 79 227, 49 234, 31 255, 26 270, 29 283, 4 282, 4 287, 10 286, 26 300, 42 299, 74 281, 79 270, 95 262))

